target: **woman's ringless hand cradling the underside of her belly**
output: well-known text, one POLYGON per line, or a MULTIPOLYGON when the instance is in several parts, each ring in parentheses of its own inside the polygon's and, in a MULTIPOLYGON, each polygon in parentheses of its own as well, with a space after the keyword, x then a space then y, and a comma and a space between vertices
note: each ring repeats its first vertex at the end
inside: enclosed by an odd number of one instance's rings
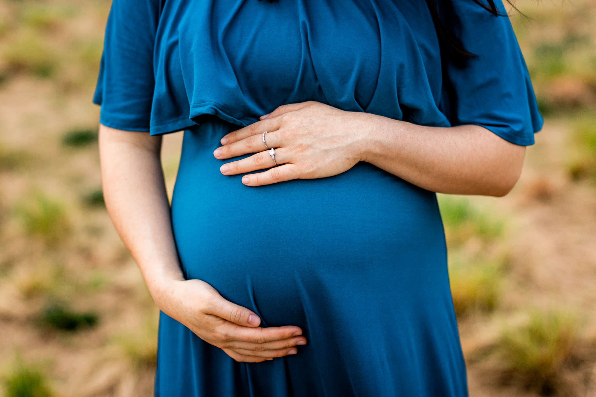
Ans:
POLYGON ((306 338, 297 326, 259 327, 252 310, 224 299, 202 280, 176 280, 151 291, 165 314, 236 361, 262 362, 296 354, 306 338))

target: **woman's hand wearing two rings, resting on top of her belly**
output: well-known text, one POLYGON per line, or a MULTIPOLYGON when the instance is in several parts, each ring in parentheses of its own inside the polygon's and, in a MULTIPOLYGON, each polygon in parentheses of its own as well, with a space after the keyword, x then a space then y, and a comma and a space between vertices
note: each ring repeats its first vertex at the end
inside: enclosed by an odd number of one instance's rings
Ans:
POLYGON ((223 146, 213 155, 219 159, 255 153, 221 166, 224 175, 269 170, 246 175, 244 185, 260 186, 290 179, 333 176, 364 161, 365 129, 373 116, 343 111, 321 102, 308 101, 278 107, 259 121, 222 137, 223 146), (269 148, 275 148, 274 164, 269 148))

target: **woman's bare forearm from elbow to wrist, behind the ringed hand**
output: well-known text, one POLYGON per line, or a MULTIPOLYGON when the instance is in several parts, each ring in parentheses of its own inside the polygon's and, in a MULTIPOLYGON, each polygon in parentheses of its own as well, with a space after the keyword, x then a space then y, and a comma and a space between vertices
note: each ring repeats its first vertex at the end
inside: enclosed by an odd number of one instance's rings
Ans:
POLYGON ((433 192, 504 196, 522 171, 525 146, 477 125, 427 127, 364 114, 362 160, 433 192))

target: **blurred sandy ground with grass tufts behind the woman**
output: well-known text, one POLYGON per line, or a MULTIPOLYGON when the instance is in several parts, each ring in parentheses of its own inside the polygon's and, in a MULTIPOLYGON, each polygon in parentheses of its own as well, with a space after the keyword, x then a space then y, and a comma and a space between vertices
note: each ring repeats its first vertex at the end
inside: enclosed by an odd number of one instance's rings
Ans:
MULTIPOLYGON (((0 0, 0 395, 148 396, 157 308, 101 195, 108 1, 0 0)), ((596 396, 596 4, 517 1, 544 129, 503 198, 439 195, 471 396, 596 396)), ((164 138, 169 192, 181 133, 164 138)))

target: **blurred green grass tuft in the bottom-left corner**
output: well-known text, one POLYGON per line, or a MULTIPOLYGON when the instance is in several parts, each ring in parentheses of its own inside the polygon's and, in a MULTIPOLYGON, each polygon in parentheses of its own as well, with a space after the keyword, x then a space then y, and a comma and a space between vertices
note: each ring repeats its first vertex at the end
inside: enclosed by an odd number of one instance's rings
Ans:
POLYGON ((6 397, 51 397, 54 395, 48 385, 45 374, 36 367, 24 365, 19 361, 13 373, 4 380, 6 397))

